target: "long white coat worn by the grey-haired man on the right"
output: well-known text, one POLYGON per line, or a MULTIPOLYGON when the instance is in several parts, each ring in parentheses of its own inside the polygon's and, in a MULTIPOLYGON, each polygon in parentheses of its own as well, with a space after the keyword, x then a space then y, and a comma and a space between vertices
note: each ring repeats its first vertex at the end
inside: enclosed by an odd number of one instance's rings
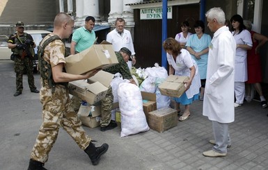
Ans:
POLYGON ((207 60, 207 80, 203 115, 223 124, 235 121, 235 49, 236 42, 228 27, 215 33, 207 60))

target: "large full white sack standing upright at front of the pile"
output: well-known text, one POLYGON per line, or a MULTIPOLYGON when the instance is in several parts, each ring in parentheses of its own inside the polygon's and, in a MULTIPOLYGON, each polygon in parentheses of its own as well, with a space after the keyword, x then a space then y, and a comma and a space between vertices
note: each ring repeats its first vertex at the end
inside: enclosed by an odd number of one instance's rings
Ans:
POLYGON ((121 112, 121 137, 150 129, 143 112, 139 87, 131 83, 121 83, 118 87, 118 101, 121 112))

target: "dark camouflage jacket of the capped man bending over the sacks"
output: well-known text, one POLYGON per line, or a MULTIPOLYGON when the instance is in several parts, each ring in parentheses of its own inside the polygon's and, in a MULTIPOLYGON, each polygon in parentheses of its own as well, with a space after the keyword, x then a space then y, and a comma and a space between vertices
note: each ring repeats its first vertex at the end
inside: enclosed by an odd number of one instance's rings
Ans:
POLYGON ((104 71, 111 74, 120 73, 124 79, 132 79, 129 67, 127 66, 127 62, 124 61, 123 56, 119 52, 116 52, 116 57, 118 59, 118 64, 108 67, 107 69, 104 69, 104 71))

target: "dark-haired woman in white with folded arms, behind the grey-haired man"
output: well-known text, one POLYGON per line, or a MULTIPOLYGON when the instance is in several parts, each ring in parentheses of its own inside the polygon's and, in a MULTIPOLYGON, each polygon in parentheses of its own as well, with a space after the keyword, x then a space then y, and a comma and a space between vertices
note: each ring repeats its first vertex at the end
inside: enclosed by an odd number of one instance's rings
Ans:
POLYGON ((240 15, 231 17, 232 35, 235 37, 237 49, 235 53, 235 108, 241 106, 245 96, 245 81, 248 80, 247 51, 252 48, 251 33, 246 30, 240 15))

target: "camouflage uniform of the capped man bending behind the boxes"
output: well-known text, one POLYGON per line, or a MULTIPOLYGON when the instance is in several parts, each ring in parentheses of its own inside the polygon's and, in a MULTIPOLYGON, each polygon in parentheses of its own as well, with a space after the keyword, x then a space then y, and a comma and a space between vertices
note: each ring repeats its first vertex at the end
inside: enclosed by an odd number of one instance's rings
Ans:
MULTIPOLYGON (((132 79, 127 62, 125 62, 120 52, 116 52, 116 57, 118 59, 118 64, 108 67, 107 69, 104 69, 104 71, 107 71, 111 74, 120 73, 124 79, 132 79)), ((113 91, 110 86, 106 96, 104 99, 102 99, 102 119, 100 121, 101 127, 108 126, 110 124, 112 103, 113 91)))

